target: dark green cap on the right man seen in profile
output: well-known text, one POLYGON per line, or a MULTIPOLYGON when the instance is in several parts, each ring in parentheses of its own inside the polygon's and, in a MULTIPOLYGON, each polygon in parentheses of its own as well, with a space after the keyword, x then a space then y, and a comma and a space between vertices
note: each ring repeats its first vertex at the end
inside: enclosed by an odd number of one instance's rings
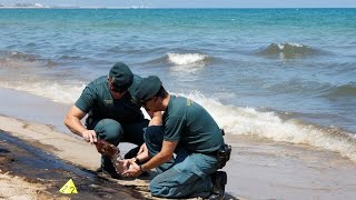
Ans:
POLYGON ((160 89, 162 82, 156 76, 144 78, 138 84, 135 97, 145 102, 151 99, 160 89))

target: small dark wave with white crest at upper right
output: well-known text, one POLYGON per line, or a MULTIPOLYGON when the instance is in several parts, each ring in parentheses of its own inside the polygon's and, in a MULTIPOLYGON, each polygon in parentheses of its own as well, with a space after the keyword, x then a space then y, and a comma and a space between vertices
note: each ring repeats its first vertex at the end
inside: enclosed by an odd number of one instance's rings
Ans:
POLYGON ((257 51, 257 54, 259 56, 281 59, 294 59, 320 53, 320 50, 299 43, 271 43, 257 51))

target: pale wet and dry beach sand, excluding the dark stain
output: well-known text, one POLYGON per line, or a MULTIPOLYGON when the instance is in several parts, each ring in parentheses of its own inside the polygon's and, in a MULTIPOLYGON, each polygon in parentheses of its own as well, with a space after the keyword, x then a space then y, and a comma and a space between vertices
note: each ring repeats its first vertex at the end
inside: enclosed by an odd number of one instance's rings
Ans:
MULTIPOLYGON (((0 89, 0 97, 1 132, 17 137, 78 168, 92 171, 99 167, 100 156, 96 149, 70 134, 62 124, 69 104, 9 89, 0 89)), ((228 134, 225 139, 233 146, 231 159, 224 169, 228 173, 228 199, 356 197, 356 164, 338 153, 245 136, 228 134)), ((0 198, 81 198, 81 193, 85 193, 79 190, 78 194, 62 196, 53 188, 60 188, 66 182, 55 182, 49 187, 46 181, 31 182, 27 177, 7 171, 3 163, 9 162, 3 158, 11 151, 6 143, 6 140, 0 141, 0 198)), ((139 179, 112 182, 118 190, 122 188, 122 191, 135 186, 139 186, 136 189, 145 190, 147 183, 147 180, 139 179)), ((128 199, 137 198, 129 191, 123 192, 128 199)), ((145 198, 145 193, 141 198, 145 198)))

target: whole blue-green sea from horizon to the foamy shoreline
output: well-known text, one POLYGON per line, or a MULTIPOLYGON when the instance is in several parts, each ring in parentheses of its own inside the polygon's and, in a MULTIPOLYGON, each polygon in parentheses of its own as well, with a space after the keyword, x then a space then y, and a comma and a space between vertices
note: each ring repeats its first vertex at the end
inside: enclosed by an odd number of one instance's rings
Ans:
POLYGON ((0 9, 0 87, 73 103, 122 61, 227 134, 356 161, 356 9, 0 9))

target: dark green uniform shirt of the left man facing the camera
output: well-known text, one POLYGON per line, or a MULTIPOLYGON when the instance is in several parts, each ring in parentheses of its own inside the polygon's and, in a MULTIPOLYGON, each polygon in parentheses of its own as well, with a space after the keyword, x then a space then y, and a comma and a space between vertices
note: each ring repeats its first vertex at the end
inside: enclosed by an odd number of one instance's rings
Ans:
POLYGON ((140 80, 141 78, 135 74, 131 87, 119 100, 111 97, 107 77, 103 76, 90 82, 76 102, 77 108, 89 113, 87 126, 101 119, 113 119, 120 123, 142 120, 141 104, 131 96, 140 80))

